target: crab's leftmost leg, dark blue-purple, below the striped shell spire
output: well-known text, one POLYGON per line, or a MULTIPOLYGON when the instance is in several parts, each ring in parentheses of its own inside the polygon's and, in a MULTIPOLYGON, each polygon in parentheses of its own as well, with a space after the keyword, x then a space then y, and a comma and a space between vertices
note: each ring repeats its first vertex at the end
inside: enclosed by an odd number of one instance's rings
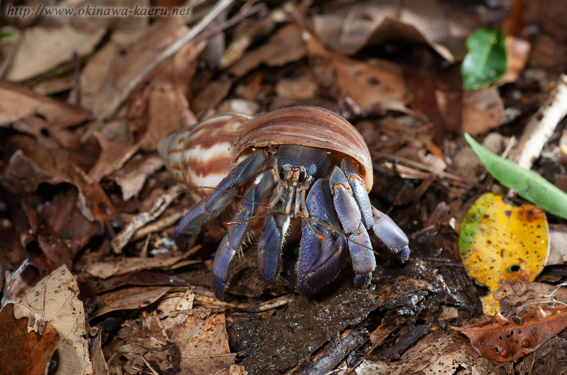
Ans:
MULTIPOLYGON (((257 150, 240 162, 228 176, 222 179, 217 187, 236 192, 237 186, 265 170, 267 163, 268 154, 266 151, 257 150)), ((198 234, 206 222, 217 217, 234 199, 235 196, 230 193, 215 190, 211 195, 193 205, 187 215, 181 219, 179 225, 175 227, 177 246, 185 248, 191 236, 198 234)))

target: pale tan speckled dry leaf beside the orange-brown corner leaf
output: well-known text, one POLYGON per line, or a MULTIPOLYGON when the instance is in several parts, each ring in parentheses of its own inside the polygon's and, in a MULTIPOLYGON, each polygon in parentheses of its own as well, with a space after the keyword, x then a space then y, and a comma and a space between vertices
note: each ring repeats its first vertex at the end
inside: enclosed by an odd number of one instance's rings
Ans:
POLYGON ((77 281, 64 264, 41 279, 19 302, 57 330, 60 337, 57 375, 92 374, 83 302, 78 294, 77 281))

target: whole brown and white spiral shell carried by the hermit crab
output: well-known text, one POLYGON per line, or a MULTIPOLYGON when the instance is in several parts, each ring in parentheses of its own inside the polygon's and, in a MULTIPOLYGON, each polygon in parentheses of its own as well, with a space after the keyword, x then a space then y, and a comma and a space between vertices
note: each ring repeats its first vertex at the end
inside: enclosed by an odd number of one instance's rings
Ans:
MULTIPOLYGON (((319 107, 288 107, 252 119, 227 114, 181 129, 158 144, 167 169, 187 187, 217 186, 252 148, 295 144, 338 151, 358 162, 366 190, 373 184, 370 152, 358 131, 335 112, 319 107)), ((191 191, 196 201, 211 189, 191 191)))

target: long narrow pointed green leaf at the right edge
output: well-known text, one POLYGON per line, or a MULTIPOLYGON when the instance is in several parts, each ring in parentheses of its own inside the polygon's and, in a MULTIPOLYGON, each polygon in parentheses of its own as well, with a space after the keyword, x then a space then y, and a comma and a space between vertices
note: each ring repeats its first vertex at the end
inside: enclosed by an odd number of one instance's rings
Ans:
POLYGON ((484 163, 486 170, 500 183, 518 195, 555 216, 567 219, 567 194, 536 172, 502 159, 464 134, 471 148, 484 163))

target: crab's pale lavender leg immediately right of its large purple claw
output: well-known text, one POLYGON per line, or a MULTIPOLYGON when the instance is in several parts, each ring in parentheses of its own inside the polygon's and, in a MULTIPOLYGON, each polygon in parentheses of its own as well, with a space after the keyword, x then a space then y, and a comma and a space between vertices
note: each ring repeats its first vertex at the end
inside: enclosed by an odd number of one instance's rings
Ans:
POLYGON ((354 285, 357 288, 370 284, 376 258, 358 204, 352 195, 352 188, 340 168, 335 167, 329 179, 335 210, 342 229, 349 235, 349 251, 356 273, 354 285), (361 246, 363 245, 363 246, 361 246))

